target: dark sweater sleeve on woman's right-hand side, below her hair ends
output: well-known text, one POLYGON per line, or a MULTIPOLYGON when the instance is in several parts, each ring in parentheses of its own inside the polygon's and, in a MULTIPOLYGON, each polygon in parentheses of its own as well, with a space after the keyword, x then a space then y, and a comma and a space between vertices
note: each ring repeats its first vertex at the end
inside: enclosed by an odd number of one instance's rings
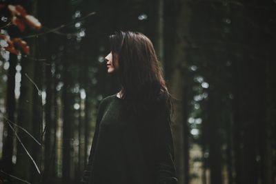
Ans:
POLYGON ((174 145, 170 127, 170 114, 166 105, 160 103, 153 120, 153 170, 157 184, 176 184, 174 145))

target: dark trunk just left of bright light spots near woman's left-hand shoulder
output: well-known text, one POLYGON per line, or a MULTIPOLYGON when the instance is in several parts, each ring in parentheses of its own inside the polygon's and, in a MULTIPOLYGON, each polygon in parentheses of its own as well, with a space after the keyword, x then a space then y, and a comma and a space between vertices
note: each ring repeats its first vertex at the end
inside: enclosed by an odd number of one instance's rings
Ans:
MULTIPOLYGON (((64 6, 64 5, 63 5, 64 6)), ((64 22, 70 22, 70 14, 72 14, 72 7, 70 3, 65 3, 65 8, 68 10, 66 14, 64 14, 64 22)), ((71 31, 72 29, 67 29, 67 31, 71 31)), ((75 87, 74 80, 74 72, 73 70, 73 53, 74 53, 74 42, 75 37, 66 38, 63 37, 63 56, 61 57, 61 62, 63 65, 62 74, 63 74, 63 83, 64 87, 62 89, 62 104, 63 104, 63 130, 62 130, 62 177, 63 183, 72 183, 72 179, 74 178, 74 134, 73 130, 75 130, 75 116, 74 116, 74 103, 75 103, 75 95, 72 93, 75 87)))

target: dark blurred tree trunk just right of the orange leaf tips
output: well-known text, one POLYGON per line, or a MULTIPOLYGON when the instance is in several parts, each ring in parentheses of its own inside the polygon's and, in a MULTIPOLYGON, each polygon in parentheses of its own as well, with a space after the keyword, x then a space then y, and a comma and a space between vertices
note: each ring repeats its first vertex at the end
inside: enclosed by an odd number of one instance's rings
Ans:
MULTIPOLYGON (((39 1, 38 18, 44 23, 47 28, 55 27, 55 13, 49 14, 48 10, 55 7, 53 1, 39 1)), ((55 50, 57 36, 55 34, 46 34, 39 39, 39 48, 41 58, 46 59, 43 61, 45 65, 45 80, 44 85, 46 88, 46 103, 45 103, 45 127, 44 127, 44 149, 43 149, 43 183, 49 183, 55 176, 55 50)))

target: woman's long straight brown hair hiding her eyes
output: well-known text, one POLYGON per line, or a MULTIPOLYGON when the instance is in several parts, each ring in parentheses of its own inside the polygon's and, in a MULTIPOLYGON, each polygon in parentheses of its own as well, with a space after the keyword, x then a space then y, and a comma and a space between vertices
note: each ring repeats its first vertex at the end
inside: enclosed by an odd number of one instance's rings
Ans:
POLYGON ((165 102, 171 116, 171 95, 150 39, 140 32, 119 31, 109 40, 112 55, 119 57, 117 74, 127 114, 150 112, 159 102, 165 102))

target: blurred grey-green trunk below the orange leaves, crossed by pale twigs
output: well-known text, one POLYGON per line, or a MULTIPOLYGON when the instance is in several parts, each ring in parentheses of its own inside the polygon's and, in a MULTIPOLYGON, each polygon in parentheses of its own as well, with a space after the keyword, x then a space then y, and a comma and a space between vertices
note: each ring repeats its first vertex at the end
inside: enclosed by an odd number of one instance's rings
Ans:
MULTIPOLYGON (((29 14, 32 14, 34 15, 34 17, 36 17, 36 0, 26 2, 25 8, 29 14)), ((36 45, 34 38, 26 39, 26 41, 30 46, 30 57, 22 57, 21 59, 21 87, 17 121, 21 127, 25 128, 30 134, 33 135, 33 94, 34 90, 36 89, 32 81, 34 80, 34 62, 36 61, 34 61, 33 58, 36 55, 36 45)), ((25 145, 26 149, 28 150, 28 152, 30 152, 31 156, 33 156, 32 146, 34 144, 34 140, 30 139, 30 136, 28 136, 25 132, 22 131, 19 131, 18 135, 23 145, 25 145)), ((28 156, 28 154, 26 154, 26 151, 23 150, 21 143, 17 141, 16 176, 19 178, 26 179, 27 181, 31 181, 31 176, 33 176, 33 174, 32 172, 30 172, 30 170, 33 170, 33 168, 34 164, 32 163, 30 157, 28 156)), ((35 172, 37 172, 37 170, 35 170, 35 172)))

